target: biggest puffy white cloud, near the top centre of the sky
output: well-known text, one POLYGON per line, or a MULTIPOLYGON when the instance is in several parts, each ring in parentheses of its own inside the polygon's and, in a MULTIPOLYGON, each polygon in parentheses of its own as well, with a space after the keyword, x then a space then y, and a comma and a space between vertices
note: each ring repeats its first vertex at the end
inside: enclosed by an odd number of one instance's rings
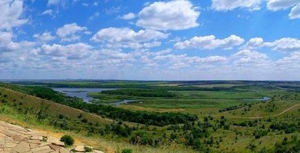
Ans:
POLYGON ((158 1, 138 13, 136 25, 155 30, 185 30, 199 25, 199 15, 190 1, 158 1))

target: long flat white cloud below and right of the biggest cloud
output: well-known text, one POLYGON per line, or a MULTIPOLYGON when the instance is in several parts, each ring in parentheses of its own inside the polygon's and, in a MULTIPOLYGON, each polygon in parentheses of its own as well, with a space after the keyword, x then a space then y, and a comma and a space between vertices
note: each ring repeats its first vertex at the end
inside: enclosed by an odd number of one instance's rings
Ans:
POLYGON ((216 39, 214 35, 204 37, 193 37, 190 40, 178 42, 174 45, 177 49, 198 48, 200 50, 213 50, 215 48, 232 49, 236 45, 241 45, 244 39, 234 34, 225 39, 216 39))

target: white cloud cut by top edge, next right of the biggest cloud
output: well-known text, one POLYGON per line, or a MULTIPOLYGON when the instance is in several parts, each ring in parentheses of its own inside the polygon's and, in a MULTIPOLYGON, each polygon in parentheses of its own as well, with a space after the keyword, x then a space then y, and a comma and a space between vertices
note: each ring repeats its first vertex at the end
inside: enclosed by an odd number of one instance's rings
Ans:
POLYGON ((260 10, 260 4, 261 0, 212 0, 212 8, 218 11, 234 10, 235 8, 260 10))

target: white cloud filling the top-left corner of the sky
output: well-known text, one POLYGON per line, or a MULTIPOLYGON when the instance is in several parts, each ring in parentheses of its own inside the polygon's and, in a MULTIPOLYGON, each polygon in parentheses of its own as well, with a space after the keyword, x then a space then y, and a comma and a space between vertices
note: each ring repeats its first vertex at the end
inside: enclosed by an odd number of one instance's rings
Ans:
POLYGON ((23 13, 22 0, 1 0, 0 1, 0 30, 21 26, 27 19, 21 19, 23 13))

